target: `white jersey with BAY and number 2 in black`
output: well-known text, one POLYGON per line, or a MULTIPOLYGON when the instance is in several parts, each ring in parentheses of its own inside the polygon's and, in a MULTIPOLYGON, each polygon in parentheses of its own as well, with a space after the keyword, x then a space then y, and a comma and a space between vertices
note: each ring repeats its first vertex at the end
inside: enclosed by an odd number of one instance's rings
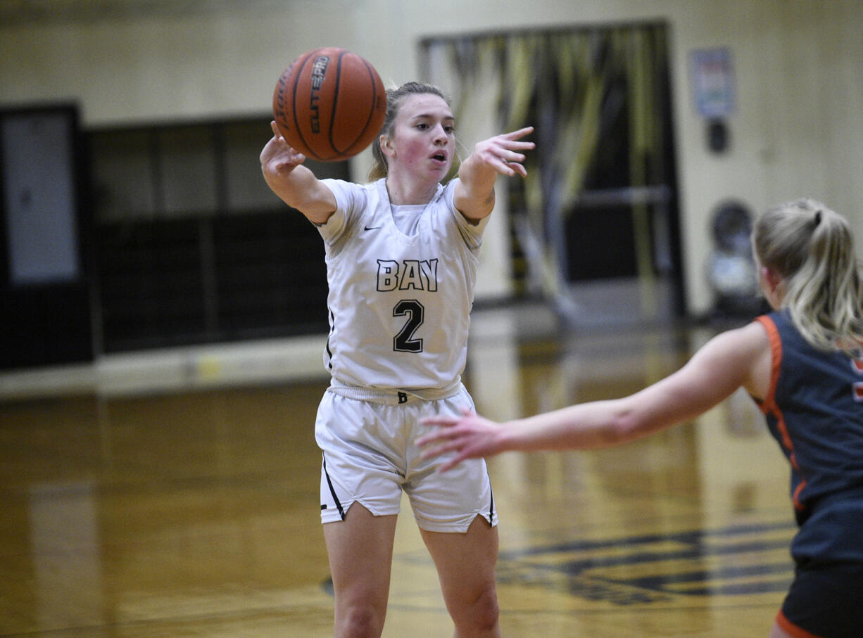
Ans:
POLYGON ((413 235, 394 222, 385 179, 325 179, 337 210, 318 227, 326 249, 334 384, 446 390, 461 381, 483 221, 471 225, 438 191, 413 235))

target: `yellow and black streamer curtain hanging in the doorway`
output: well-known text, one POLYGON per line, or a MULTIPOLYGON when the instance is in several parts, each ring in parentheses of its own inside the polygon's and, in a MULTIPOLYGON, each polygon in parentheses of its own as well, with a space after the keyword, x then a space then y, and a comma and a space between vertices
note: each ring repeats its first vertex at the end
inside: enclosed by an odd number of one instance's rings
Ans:
MULTIPOLYGON (((527 125, 536 128, 532 139, 537 150, 526 160, 526 180, 516 186, 523 188, 523 210, 511 213, 522 216, 513 223, 532 279, 545 294, 561 294, 564 222, 575 210, 601 143, 612 83, 626 86, 630 158, 621 171, 628 172, 631 186, 648 185, 654 177, 649 159, 662 153, 665 139, 654 82, 658 65, 665 64, 665 28, 450 36, 425 41, 423 53, 425 75, 450 92, 460 129, 475 133, 465 122, 484 123, 488 134, 527 125)), ((650 275, 644 207, 633 206, 633 222, 639 275, 650 275)))

